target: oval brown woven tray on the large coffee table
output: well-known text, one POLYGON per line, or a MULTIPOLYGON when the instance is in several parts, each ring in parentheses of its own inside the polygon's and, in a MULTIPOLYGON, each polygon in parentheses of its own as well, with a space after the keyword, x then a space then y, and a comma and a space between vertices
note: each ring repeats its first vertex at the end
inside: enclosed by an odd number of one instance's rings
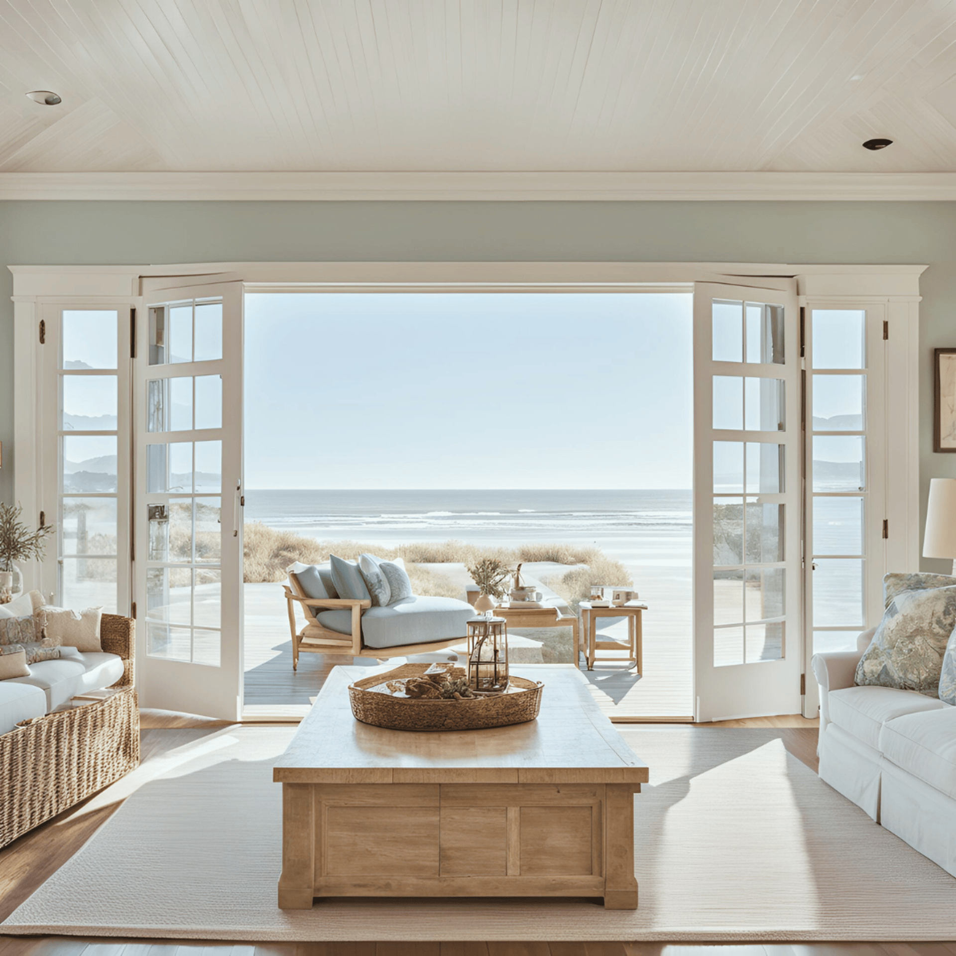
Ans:
MULTIPOLYGON (((429 664, 406 663, 387 674, 366 677, 349 687, 352 713, 362 724, 390 730, 484 730, 508 727, 534 720, 541 709, 544 684, 511 677, 508 691, 486 697, 455 700, 412 700, 392 697, 366 688, 403 677, 421 677, 429 664)), ((453 677, 464 677, 465 671, 455 667, 453 677)))

